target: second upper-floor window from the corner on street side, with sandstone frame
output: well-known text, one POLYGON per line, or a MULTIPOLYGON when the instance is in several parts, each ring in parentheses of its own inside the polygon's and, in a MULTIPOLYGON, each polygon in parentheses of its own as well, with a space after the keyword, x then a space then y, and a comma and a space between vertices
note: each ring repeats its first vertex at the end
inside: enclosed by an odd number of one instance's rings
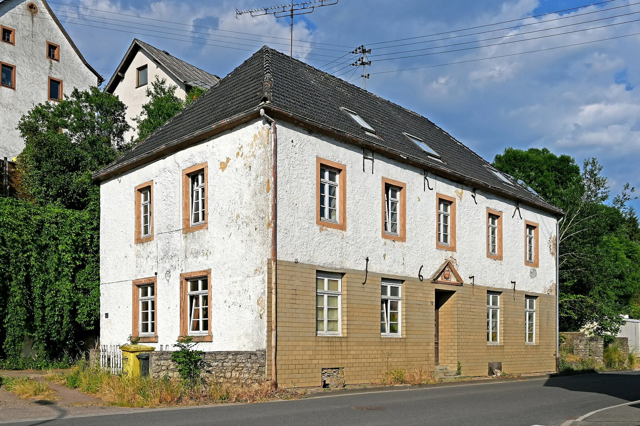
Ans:
POLYGON ((406 241, 406 183, 382 178, 382 238, 406 241))

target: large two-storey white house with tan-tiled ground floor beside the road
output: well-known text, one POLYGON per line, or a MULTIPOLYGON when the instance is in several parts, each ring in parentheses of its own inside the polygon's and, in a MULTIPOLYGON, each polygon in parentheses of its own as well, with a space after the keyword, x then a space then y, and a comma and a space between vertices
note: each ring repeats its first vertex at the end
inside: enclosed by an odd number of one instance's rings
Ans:
POLYGON ((139 337, 154 375, 183 335, 243 383, 556 369, 563 211, 268 47, 93 178, 100 342, 139 337))

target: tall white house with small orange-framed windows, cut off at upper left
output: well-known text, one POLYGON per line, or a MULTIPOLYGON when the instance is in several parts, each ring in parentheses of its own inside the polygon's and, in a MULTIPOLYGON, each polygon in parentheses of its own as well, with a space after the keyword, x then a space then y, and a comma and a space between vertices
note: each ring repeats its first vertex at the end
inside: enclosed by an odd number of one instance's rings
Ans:
POLYGON ((38 103, 59 102, 74 87, 85 90, 104 79, 45 0, 0 0, 0 31, 0 160, 11 161, 24 148, 16 130, 23 114, 38 103))

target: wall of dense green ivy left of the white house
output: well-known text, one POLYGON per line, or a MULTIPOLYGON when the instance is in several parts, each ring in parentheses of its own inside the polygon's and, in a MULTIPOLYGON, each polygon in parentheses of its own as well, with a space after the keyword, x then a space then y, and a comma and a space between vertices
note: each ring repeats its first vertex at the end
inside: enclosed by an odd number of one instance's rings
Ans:
POLYGON ((38 358, 66 360, 100 313, 99 202, 83 210, 0 198, 0 358, 25 337, 38 358))

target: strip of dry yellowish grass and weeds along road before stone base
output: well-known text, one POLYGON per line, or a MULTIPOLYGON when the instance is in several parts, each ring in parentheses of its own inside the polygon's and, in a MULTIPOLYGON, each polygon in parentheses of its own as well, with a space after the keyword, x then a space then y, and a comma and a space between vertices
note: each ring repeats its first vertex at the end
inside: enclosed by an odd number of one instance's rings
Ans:
POLYGON ((273 399, 296 399, 306 390, 275 390, 263 386, 239 386, 202 379, 195 386, 178 379, 127 377, 74 369, 61 376, 48 376, 81 392, 99 397, 104 402, 121 407, 159 407, 175 405, 219 404, 224 402, 262 402, 273 399))

